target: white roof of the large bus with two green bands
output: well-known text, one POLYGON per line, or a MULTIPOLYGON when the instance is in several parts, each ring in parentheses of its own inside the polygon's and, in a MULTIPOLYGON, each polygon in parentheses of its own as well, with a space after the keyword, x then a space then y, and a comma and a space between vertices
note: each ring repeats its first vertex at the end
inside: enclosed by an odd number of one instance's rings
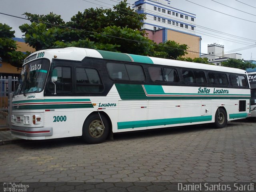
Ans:
POLYGON ((124 61, 124 62, 140 62, 140 63, 147 63, 147 64, 159 64, 159 65, 174 66, 174 67, 184 67, 184 68, 194 68, 194 69, 202 69, 202 70, 213 70, 213 71, 219 71, 219 72, 247 74, 245 70, 241 70, 237 68, 215 66, 210 64, 201 64, 201 63, 194 63, 194 62, 192 63, 192 62, 156 58, 156 57, 150 57, 150 56, 140 56, 140 55, 134 55, 134 54, 119 53, 119 52, 94 50, 94 49, 88 49, 88 48, 77 48, 77 47, 40 50, 40 51, 34 52, 30 56, 34 54, 38 54, 40 52, 44 52, 45 57, 49 59, 54 58, 54 56, 57 56, 58 59, 81 61, 85 57, 92 57, 92 58, 103 58, 106 60, 124 61))

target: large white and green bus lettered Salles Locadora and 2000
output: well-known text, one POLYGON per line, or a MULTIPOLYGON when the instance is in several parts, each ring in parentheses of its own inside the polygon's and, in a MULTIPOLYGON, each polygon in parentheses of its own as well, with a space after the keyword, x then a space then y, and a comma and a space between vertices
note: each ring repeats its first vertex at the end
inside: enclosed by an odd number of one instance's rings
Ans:
POLYGON ((246 118, 246 71, 88 48, 32 53, 12 99, 11 132, 44 140, 246 118))

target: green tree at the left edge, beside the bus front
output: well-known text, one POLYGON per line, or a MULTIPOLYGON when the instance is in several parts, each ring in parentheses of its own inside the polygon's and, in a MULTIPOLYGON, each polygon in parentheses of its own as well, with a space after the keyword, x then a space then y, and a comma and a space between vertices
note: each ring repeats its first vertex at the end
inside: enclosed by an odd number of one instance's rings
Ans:
POLYGON ((16 41, 13 40, 15 31, 7 24, 0 23, 0 56, 5 62, 9 62, 12 66, 21 67, 23 60, 27 54, 23 54, 17 50, 16 41))

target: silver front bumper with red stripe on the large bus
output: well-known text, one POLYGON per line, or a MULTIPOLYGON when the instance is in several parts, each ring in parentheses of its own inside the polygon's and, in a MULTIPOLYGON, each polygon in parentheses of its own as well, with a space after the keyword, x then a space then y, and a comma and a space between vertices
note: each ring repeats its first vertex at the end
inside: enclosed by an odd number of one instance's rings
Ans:
POLYGON ((26 137, 52 136, 52 127, 19 127, 11 126, 11 133, 26 137))

